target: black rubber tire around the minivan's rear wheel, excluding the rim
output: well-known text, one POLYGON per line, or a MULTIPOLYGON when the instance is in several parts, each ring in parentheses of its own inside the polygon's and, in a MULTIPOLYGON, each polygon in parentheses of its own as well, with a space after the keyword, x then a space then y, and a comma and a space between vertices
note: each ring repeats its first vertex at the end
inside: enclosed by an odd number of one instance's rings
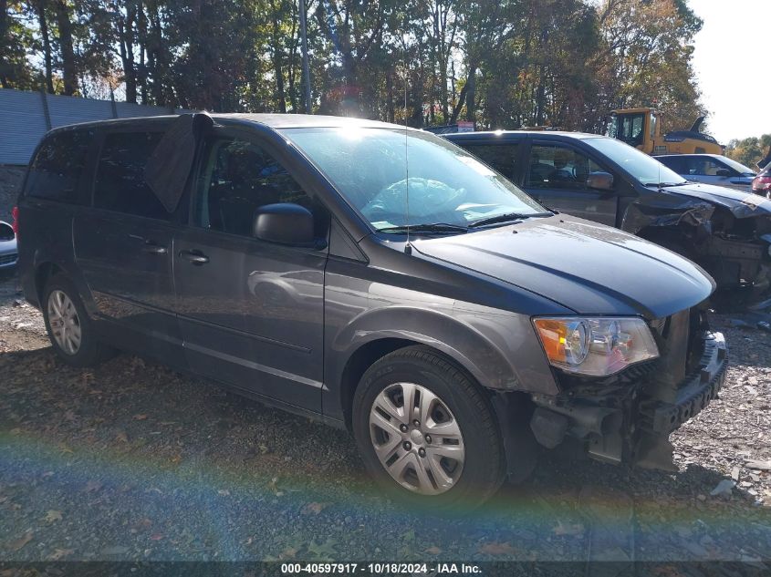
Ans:
POLYGON ((83 305, 80 294, 78 294, 78 289, 75 288, 75 285, 66 276, 57 274, 50 278, 43 291, 41 309, 43 310, 43 318, 46 321, 48 340, 51 341, 51 345, 53 345, 59 358, 68 365, 78 367, 96 366, 116 355, 115 349, 99 340, 99 335, 97 335, 93 322, 86 312, 86 307, 83 305), (74 354, 66 351, 57 343, 57 339, 54 337, 53 330, 51 329, 48 304, 54 291, 66 294, 72 304, 74 304, 78 315, 81 338, 78 350, 74 354))

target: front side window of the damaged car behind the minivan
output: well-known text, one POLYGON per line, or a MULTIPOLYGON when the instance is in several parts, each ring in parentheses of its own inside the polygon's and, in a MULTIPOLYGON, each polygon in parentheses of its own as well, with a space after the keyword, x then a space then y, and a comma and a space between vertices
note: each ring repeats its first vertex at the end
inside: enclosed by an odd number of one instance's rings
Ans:
POLYGON ((589 190, 589 174, 602 171, 599 164, 578 150, 560 145, 534 145, 530 149, 526 183, 534 189, 589 190))

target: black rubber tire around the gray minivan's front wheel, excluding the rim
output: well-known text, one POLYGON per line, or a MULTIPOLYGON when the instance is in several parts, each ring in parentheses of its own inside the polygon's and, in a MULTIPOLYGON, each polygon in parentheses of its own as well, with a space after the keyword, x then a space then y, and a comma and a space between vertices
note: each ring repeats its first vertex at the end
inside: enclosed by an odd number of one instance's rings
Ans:
POLYGON ((504 480, 503 441, 490 402, 464 371, 427 347, 402 348, 370 366, 356 389, 352 425, 365 467, 380 487, 398 500, 431 510, 467 510, 489 499, 504 480), (463 469, 454 485, 444 492, 422 494, 402 487, 377 456, 370 438, 370 409, 380 393, 396 383, 414 383, 428 389, 449 408, 460 428, 465 451, 463 469))

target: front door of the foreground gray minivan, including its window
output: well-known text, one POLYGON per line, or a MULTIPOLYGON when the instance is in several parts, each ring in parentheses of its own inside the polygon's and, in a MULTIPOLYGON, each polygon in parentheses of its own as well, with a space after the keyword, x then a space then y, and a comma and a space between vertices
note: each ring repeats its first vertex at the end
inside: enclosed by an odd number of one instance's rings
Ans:
POLYGON ((204 145, 191 226, 174 243, 185 353, 202 375, 320 412, 327 250, 252 228, 257 207, 277 202, 313 211, 319 236, 326 219, 255 138, 221 129, 204 145))

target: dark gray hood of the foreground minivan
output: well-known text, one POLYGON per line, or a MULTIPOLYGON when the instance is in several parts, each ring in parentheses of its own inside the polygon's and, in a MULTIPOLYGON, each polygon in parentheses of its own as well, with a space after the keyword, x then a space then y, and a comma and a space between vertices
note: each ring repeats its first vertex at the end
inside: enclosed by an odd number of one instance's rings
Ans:
POLYGON ((714 290, 707 273, 674 252, 567 215, 420 239, 412 247, 578 314, 662 318, 701 303, 714 290))

